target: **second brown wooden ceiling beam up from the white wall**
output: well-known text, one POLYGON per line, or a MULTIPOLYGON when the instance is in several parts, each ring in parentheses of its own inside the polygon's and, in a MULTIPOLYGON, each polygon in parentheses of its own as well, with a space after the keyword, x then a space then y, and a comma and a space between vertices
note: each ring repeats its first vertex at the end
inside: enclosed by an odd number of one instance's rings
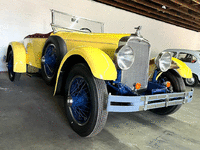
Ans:
MULTIPOLYGON (((166 18, 166 19, 169 19, 169 20, 172 20, 172 21, 176 21, 176 22, 179 22, 181 24, 189 25, 189 26, 195 27, 195 28, 200 28, 200 23, 195 24, 193 22, 186 21, 185 19, 183 20, 183 19, 175 17, 175 16, 167 15, 166 13, 163 13, 163 12, 157 12, 156 11, 157 9, 155 10, 155 9, 152 9, 152 8, 147 8, 147 7, 144 7, 143 5, 138 5, 137 3, 134 3, 133 1, 132 2, 128 2, 128 1, 124 1, 124 0, 114 0, 114 1, 121 3, 121 4, 124 4, 124 5, 127 5, 127 6, 131 6, 132 8, 144 10, 145 12, 149 12, 149 13, 155 14, 157 16, 162 16, 163 18, 166 18)), ((160 10, 162 11, 162 8, 160 10)))

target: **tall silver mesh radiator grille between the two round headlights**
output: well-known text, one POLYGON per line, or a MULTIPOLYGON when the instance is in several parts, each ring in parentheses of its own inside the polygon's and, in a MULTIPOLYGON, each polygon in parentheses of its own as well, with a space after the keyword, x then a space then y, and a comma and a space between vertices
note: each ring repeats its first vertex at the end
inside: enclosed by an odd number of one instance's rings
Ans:
POLYGON ((134 50, 135 61, 130 69, 122 70, 121 82, 130 88, 141 83, 140 89, 147 88, 150 45, 147 42, 131 39, 128 45, 134 50))

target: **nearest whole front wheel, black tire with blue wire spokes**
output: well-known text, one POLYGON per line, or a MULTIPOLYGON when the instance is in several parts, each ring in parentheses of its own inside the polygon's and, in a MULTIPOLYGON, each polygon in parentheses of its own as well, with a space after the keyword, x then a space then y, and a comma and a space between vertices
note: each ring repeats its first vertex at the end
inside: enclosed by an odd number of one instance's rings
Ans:
POLYGON ((79 63, 68 73, 64 94, 64 108, 72 129, 82 137, 98 134, 108 116, 105 81, 95 78, 87 64, 79 63))

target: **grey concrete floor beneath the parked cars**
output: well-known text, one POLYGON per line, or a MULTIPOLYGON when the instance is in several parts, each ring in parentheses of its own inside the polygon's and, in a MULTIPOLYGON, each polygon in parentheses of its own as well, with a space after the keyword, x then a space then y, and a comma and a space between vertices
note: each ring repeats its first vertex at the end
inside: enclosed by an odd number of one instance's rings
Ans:
POLYGON ((92 138, 73 132, 63 97, 52 93, 41 77, 22 75, 12 83, 0 73, 0 150, 200 149, 200 85, 193 101, 173 115, 109 113, 105 128, 92 138))

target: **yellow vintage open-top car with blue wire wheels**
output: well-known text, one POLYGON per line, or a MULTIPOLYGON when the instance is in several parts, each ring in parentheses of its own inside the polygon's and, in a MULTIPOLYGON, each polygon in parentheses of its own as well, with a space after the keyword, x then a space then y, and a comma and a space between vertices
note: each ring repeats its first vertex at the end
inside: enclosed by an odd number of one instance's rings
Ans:
POLYGON ((182 80, 191 70, 168 52, 150 60, 140 35, 102 33, 103 24, 51 10, 53 32, 11 42, 6 62, 11 81, 40 71, 55 94, 63 94, 72 129, 83 137, 99 133, 108 112, 176 112, 192 101, 182 80), (181 77, 182 76, 182 77, 181 77))

